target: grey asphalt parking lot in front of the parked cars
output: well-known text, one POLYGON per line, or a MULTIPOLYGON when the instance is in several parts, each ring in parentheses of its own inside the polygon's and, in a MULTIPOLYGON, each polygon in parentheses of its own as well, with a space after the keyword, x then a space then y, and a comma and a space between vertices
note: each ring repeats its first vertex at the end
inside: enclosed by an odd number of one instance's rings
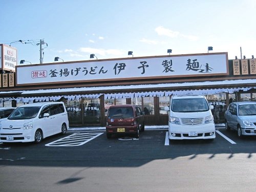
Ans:
POLYGON ((0 144, 0 191, 255 191, 256 137, 217 129, 213 142, 166 145, 167 130, 146 130, 138 140, 73 131, 0 144))

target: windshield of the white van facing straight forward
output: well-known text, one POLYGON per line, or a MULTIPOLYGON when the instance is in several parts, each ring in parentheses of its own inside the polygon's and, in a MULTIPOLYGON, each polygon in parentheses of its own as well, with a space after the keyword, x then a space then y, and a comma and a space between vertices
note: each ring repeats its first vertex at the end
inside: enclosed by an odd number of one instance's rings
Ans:
POLYGON ((204 98, 173 99, 172 111, 180 113, 209 111, 209 105, 204 98))

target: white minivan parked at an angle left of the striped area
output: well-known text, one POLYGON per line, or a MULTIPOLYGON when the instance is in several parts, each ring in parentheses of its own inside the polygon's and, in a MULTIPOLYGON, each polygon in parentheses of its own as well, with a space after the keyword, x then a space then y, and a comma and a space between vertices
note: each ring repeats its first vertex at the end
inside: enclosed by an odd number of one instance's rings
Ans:
POLYGON ((16 108, 0 122, 0 142, 36 142, 69 129, 63 102, 37 102, 16 108))

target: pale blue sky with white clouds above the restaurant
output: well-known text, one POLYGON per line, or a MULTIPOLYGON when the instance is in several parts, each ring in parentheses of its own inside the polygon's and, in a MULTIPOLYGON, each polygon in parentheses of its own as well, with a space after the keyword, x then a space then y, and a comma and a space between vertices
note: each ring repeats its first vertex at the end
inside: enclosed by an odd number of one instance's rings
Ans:
POLYGON ((228 52, 256 56, 256 0, 0 0, 0 44, 18 65, 228 52), (22 40, 26 42, 14 42, 22 40), (19 64, 20 60, 26 60, 19 64), (59 59, 59 62, 62 61, 59 59), (58 61, 57 61, 58 62, 58 61))

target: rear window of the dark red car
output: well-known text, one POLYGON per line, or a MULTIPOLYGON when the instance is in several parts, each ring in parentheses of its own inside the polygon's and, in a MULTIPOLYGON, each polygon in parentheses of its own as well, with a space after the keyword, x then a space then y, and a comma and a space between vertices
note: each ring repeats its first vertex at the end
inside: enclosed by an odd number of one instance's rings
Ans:
POLYGON ((133 108, 110 108, 109 118, 133 118, 133 108))

